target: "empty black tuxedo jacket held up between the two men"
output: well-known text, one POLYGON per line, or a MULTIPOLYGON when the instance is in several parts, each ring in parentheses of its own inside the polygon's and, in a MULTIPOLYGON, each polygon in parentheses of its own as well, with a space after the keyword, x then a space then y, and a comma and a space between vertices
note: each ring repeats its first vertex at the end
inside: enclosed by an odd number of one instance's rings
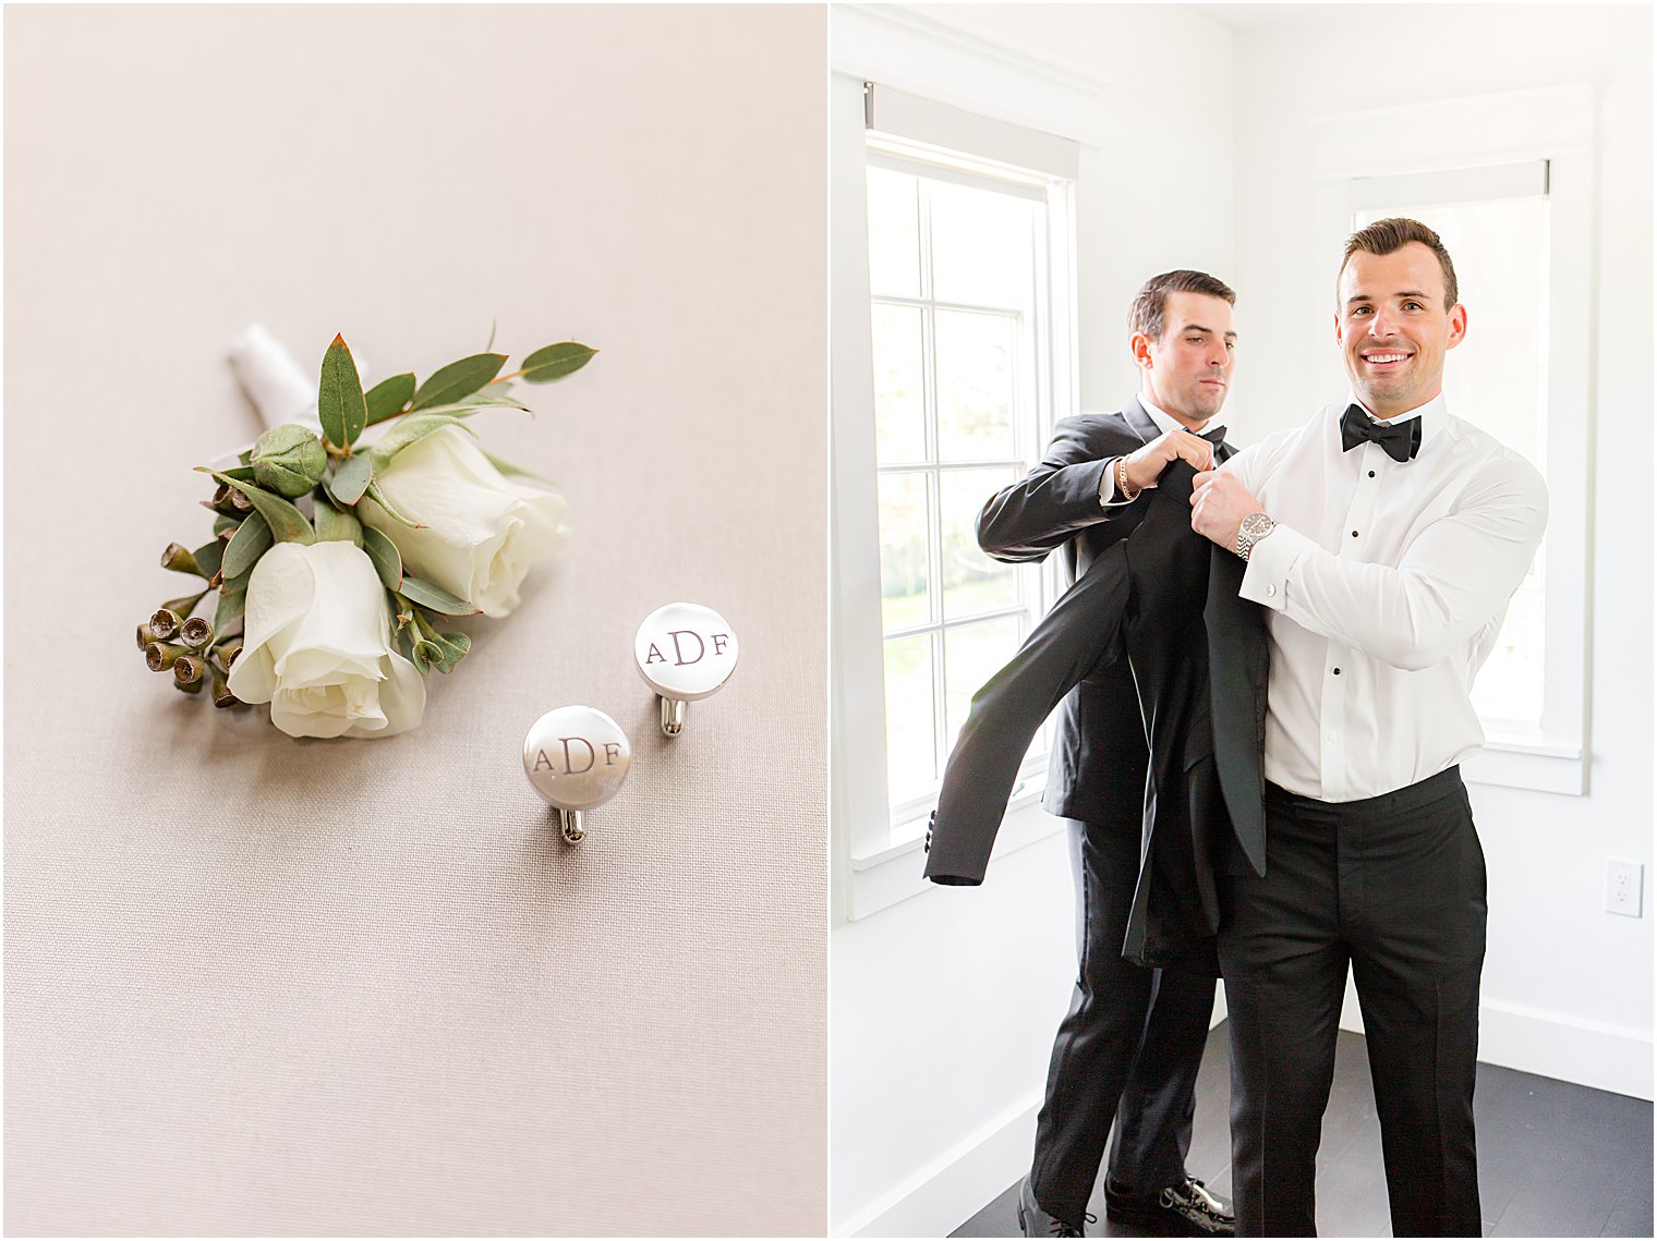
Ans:
POLYGON ((974 694, 944 769, 926 876, 983 881, 1031 737, 1122 649, 1138 686, 1135 731, 1150 749, 1140 878, 1122 951, 1140 964, 1213 969, 1215 875, 1229 842, 1258 873, 1266 865, 1268 648, 1259 608, 1236 593, 1243 562, 1191 530, 1193 474, 1178 461, 1163 472, 1135 504, 1143 512, 1132 535, 1092 558, 974 694))

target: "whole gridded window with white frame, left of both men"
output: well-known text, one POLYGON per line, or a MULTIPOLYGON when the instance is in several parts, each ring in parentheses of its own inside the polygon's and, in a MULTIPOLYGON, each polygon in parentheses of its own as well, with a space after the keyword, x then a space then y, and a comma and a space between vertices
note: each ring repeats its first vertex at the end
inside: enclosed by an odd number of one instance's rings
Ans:
POLYGON ((882 867, 918 850, 973 693, 1052 596, 976 524, 1075 411, 1074 182, 1069 139, 832 80, 830 787, 872 885, 850 916, 918 890, 913 860, 882 867))

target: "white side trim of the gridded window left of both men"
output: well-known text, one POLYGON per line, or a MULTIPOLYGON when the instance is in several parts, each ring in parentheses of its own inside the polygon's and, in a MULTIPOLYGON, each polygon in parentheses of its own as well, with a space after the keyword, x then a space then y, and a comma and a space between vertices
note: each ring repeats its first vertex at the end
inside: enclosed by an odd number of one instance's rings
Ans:
MULTIPOLYGON (((925 890, 920 833, 895 825, 886 787, 885 671, 880 615, 880 529, 870 343, 868 217, 863 78, 830 75, 830 804, 837 913, 860 918, 925 890), (895 830, 895 827, 898 830, 895 830)), ((910 156, 913 157, 913 156, 910 156)), ((986 161, 988 162, 988 161, 986 161)), ((1041 442, 1052 423, 1077 409, 1074 181, 1046 182, 1049 200, 1049 305, 1042 343, 1049 379, 1041 442)), ((1052 582, 1047 575, 1046 582, 1052 582)), ((1051 587, 1047 587, 1051 590, 1051 587)), ((1046 592, 1044 592, 1046 593, 1046 592)), ((1044 600, 1046 601, 1046 600, 1044 600)), ((1044 774, 1046 764, 1042 764, 1044 774)), ((1037 772, 1016 790, 1019 809, 1039 795, 1037 772)), ((926 807, 930 809, 930 807, 926 807)), ((925 818, 925 809, 921 812, 925 818)), ((1011 827, 1011 815, 1009 815, 1011 827)), ((1029 828, 1031 838, 1052 830, 1029 828)), ((1006 842, 1017 847, 1011 837, 1006 842)))

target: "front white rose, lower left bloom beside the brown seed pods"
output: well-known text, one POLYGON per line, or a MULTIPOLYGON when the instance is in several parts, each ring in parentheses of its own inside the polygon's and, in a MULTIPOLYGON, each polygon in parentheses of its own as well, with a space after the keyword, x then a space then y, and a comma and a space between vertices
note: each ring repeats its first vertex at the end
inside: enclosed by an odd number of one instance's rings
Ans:
POLYGON ((230 693, 270 703, 290 737, 389 737, 419 724, 426 683, 391 648, 386 592, 355 543, 277 543, 247 583, 230 693))

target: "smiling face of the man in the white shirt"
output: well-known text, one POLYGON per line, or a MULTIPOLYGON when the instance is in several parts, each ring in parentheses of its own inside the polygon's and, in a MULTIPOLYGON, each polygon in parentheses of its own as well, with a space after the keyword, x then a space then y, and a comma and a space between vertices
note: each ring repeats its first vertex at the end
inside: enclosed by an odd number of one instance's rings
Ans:
POLYGON ((1341 268, 1336 340, 1352 391, 1375 418, 1397 418, 1443 391, 1445 351, 1466 335, 1466 310, 1445 305, 1445 275, 1420 242, 1357 250, 1341 268))

